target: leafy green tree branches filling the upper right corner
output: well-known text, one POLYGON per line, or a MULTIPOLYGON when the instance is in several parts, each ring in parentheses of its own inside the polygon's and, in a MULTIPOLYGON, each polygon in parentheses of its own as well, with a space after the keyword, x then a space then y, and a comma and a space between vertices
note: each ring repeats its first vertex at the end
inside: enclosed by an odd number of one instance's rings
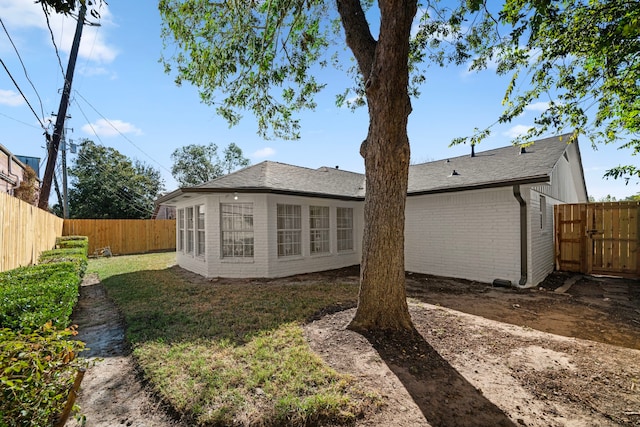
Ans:
MULTIPOLYGON (((499 122, 537 100, 547 105, 517 142, 569 128, 574 138, 622 141, 621 148, 640 152, 640 2, 506 0, 499 13, 489 11, 487 1, 470 3, 485 18, 466 39, 478 54, 473 68, 495 61, 498 73, 511 75, 499 122), (505 27, 508 36, 501 37, 505 27)), ((640 169, 618 166, 605 176, 640 177, 640 169)))

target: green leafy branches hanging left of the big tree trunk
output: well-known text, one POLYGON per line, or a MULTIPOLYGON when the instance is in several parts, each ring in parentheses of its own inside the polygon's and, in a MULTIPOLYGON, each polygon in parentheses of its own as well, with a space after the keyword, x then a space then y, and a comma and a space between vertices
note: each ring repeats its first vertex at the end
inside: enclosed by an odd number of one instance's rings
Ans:
POLYGON ((178 47, 162 58, 176 83, 197 86, 230 124, 249 110, 262 136, 299 137, 292 114, 314 108, 323 87, 312 72, 327 46, 323 1, 162 0, 159 9, 165 50, 178 47))

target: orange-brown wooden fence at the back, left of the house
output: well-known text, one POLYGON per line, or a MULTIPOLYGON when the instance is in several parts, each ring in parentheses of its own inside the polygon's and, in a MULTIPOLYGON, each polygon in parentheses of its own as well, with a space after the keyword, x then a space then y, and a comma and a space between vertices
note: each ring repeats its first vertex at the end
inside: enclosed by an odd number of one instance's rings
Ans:
POLYGON ((175 250, 175 219, 66 219, 63 236, 87 236, 89 255, 109 247, 114 255, 175 250))

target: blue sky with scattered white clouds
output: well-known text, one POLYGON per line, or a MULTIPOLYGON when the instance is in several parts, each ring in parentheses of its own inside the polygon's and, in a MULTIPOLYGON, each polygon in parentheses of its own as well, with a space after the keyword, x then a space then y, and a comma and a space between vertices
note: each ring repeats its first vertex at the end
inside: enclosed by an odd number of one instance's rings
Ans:
MULTIPOLYGON (((171 153, 189 144, 213 142, 222 151, 233 142, 252 164, 271 160, 364 172, 359 147, 369 119, 366 109, 352 112, 335 106, 335 95, 349 84, 340 71, 325 69, 318 74, 317 79, 327 87, 316 98, 317 108, 300 114, 299 140, 264 140, 250 113, 230 128, 213 107, 200 102, 196 88, 178 87, 174 77, 164 72, 159 62, 163 44, 157 2, 110 0, 100 13, 99 20, 90 18, 100 25, 83 30, 67 111, 71 116, 66 122, 69 140, 88 138, 153 166, 160 171, 167 191, 178 187, 171 176, 171 153)), ((4 25, 0 28, 0 59, 9 70, 0 69, 0 144, 16 155, 39 157, 42 176, 46 150, 38 120, 45 126, 51 123, 52 133, 52 115, 58 111, 62 69, 67 68, 76 22, 52 15, 50 31, 42 8, 32 0, 0 0, 0 19, 4 25)), ((469 73, 464 67, 430 68, 420 98, 412 101, 408 126, 412 163, 469 154, 467 145, 449 147, 451 140, 494 123, 502 112, 506 85, 505 78, 491 69, 469 73)), ((533 124, 540 105, 532 104, 513 122, 493 127, 492 135, 476 152, 509 145, 533 124)), ((633 163, 629 150, 613 145, 594 150, 582 137, 580 151, 590 196, 622 199, 640 192, 636 182, 603 178, 607 169, 633 163)), ((68 153, 68 164, 76 156, 68 153)))

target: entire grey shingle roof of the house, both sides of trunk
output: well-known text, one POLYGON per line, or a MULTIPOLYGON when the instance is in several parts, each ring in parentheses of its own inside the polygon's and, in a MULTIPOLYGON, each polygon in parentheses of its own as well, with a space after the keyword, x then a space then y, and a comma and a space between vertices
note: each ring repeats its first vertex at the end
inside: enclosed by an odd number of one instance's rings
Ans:
MULTIPOLYGON (((460 156, 412 165, 409 167, 408 195, 549 182, 568 141, 569 135, 562 135, 535 141, 522 154, 520 147, 508 146, 479 152, 474 157, 460 156), (456 174, 452 174, 454 170, 456 174)), ((186 193, 220 192, 362 200, 365 179, 363 174, 335 168, 309 169, 265 161, 195 187, 178 189, 156 203, 175 202, 188 197, 186 193)))

